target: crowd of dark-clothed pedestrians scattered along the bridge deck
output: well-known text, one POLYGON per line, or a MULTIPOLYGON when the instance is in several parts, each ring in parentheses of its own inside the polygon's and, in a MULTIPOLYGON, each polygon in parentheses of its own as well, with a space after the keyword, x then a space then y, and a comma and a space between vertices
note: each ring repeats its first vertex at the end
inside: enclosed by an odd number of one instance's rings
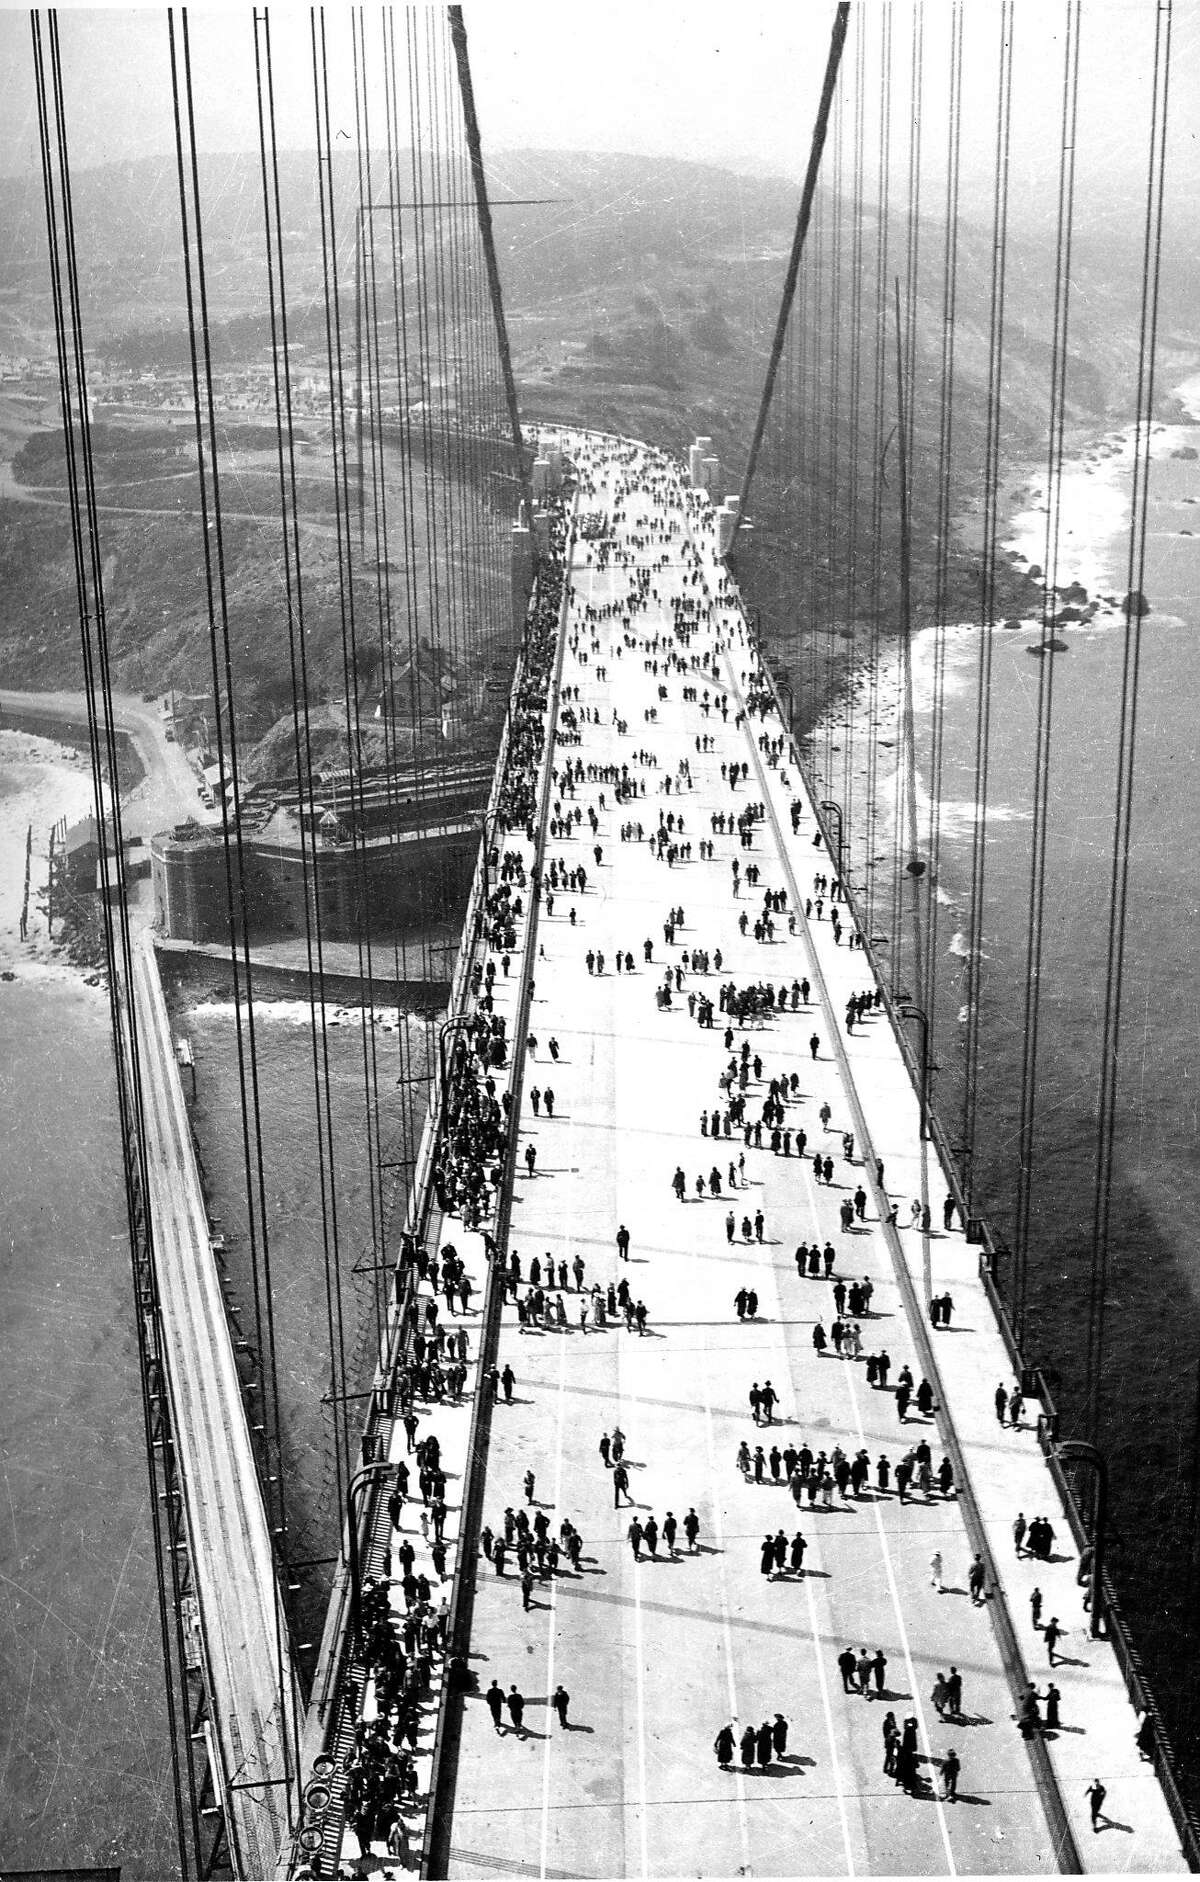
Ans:
MULTIPOLYGON (((523 1046, 530 1067, 523 1099, 519 1080, 513 1084, 512 1050, 513 1007, 521 1011, 521 996, 532 997, 536 973, 534 950, 527 950, 530 913, 562 922, 572 932, 570 947, 577 950, 576 971, 589 981, 632 982, 628 994, 613 997, 641 997, 653 1014, 687 1014, 687 1022, 703 1035, 720 1033, 720 1054, 713 1054, 713 1084, 696 1092, 698 1156, 671 1159, 662 1171, 664 1193, 673 1195, 670 1208, 679 1206, 681 1221, 696 1221, 696 1236, 709 1250, 732 1263, 732 1314, 747 1329, 762 1325, 764 1263, 777 1268, 781 1297, 788 1295, 788 1312, 813 1321, 813 1359, 807 1361, 803 1383, 797 1376, 784 1380, 784 1393, 760 1372, 745 1391, 745 1415, 762 1438, 743 1438, 734 1468, 752 1489, 777 1489, 792 1496, 790 1521, 779 1521, 779 1506, 771 1509, 762 1528, 762 1539, 750 1543, 745 1536, 728 1543, 745 1555, 752 1573, 752 1549, 758 1551, 758 1570, 766 1583, 781 1585, 771 1600, 786 1607, 796 1596, 788 1583, 801 1587, 813 1571, 811 1543, 796 1526, 799 1509, 807 1513, 845 1511, 880 1500, 907 1504, 922 1498, 927 1504, 957 1496, 952 1457, 937 1443, 937 1391, 929 1378, 914 1374, 912 1364, 899 1355, 893 1361, 882 1344, 878 1306, 873 1304, 875 1282, 860 1272, 863 1261, 858 1235, 876 1235, 876 1225, 897 1227, 897 1208, 884 1191, 880 1163, 869 1161, 856 1142, 854 1120, 835 1118, 829 1099, 813 1095, 824 1090, 816 1067, 829 1058, 829 1033, 835 1018, 824 1011, 820 986, 809 973, 775 967, 781 943, 792 939, 799 922, 824 922, 835 945, 858 945, 858 930, 846 915, 843 886, 829 868, 813 875, 811 894, 796 898, 788 885, 769 879, 760 837, 767 821, 767 804, 758 792, 756 774, 747 760, 722 757, 718 764, 720 798, 715 809, 705 805, 700 817, 690 802, 702 762, 707 783, 717 770, 715 751, 728 751, 722 728, 743 730, 756 715, 764 721, 773 710, 773 694, 756 666, 756 653, 739 638, 724 578, 713 574, 687 533, 664 519, 643 519, 628 529, 628 512, 636 491, 658 491, 670 497, 683 514, 700 512, 707 499, 681 489, 677 472, 660 459, 647 459, 632 448, 619 463, 606 491, 589 486, 587 463, 581 467, 581 487, 589 502, 589 527, 583 555, 594 570, 606 570, 604 600, 585 597, 581 582, 570 589, 566 614, 568 651, 583 679, 600 681, 602 704, 592 704, 596 693, 568 683, 559 694, 559 725, 553 747, 545 749, 545 700, 555 657, 555 632, 561 617, 562 570, 544 570, 532 627, 527 664, 513 698, 510 721, 508 766, 497 800, 495 841, 489 854, 487 888, 480 917, 480 950, 470 969, 470 1007, 455 1020, 446 1058, 446 1090, 442 1093, 442 1133, 433 1167, 433 1191, 446 1220, 459 1220, 465 1231, 478 1231, 487 1242, 491 1287, 502 1300, 502 1312, 517 1334, 530 1340, 547 1334, 570 1342, 583 1336, 591 1348, 592 1334, 621 1332, 634 1340, 653 1338, 658 1329, 653 1316, 653 1267, 645 1287, 634 1284, 630 1261, 643 1263, 641 1225, 626 1214, 609 1227, 608 1257, 604 1244, 585 1252, 542 1248, 529 1252, 498 1242, 493 1236, 497 1204, 513 1169, 517 1148, 517 1107, 527 1105, 530 1122, 540 1125, 540 1137, 549 1127, 561 1129, 570 1112, 572 1080, 577 1077, 561 1061, 561 1046, 551 1037, 549 1065, 540 1058, 540 1043, 529 1031, 523 1046), (649 465, 649 469, 647 469, 649 465), (624 540, 619 531, 624 525, 624 540), (683 580, 681 593, 670 593, 660 582, 671 566, 673 583, 683 580), (670 614, 670 625, 664 621, 670 614), (713 630, 700 634, 702 625, 713 630), (743 659, 739 687, 728 683, 726 659, 743 659), (621 719, 609 693, 609 676, 621 662, 634 662, 651 679, 651 704, 643 719, 632 726, 621 719), (683 698, 694 706, 703 730, 696 732, 694 751, 668 762, 658 738, 658 715, 683 698), (745 702, 745 704, 741 704, 745 702), (589 728, 611 723, 617 742, 609 749, 623 753, 619 762, 591 762, 589 728), (711 726, 711 730, 707 730, 711 726), (547 817, 545 839, 540 847, 538 787, 545 779, 547 817), (660 911, 645 930, 623 935, 619 941, 596 937, 587 920, 606 881, 604 871, 613 841, 639 845, 662 883, 660 911), (703 924, 688 917, 688 896, 683 888, 687 868, 713 864, 728 869, 730 918, 741 943, 722 932, 703 932, 703 924), (660 873, 658 873, 660 871, 660 873), (583 917, 583 920, 581 920, 583 917), (581 928, 579 937, 574 932, 581 928), (734 962, 745 960, 749 945, 762 949, 762 973, 735 973, 734 962), (523 965, 525 964, 525 965, 523 965), (515 984, 513 984, 515 969, 515 984), (523 975, 530 975, 523 982, 523 975), (508 992, 506 992, 508 986, 508 992), (782 1022, 788 1022, 784 1035, 782 1022), (784 1061, 782 1037, 803 1026, 801 1043, 792 1041, 784 1061), (551 1082, 553 1080, 553 1082, 551 1082), (829 1233, 814 1231, 816 1214, 809 1210, 807 1236, 794 1253, 782 1250, 786 1220, 773 1220, 779 1210, 764 1206, 752 1191, 762 1182, 766 1159, 792 1163, 797 1195, 820 1197, 822 1216, 829 1233), (841 1188, 837 1206, 824 1201, 828 1191, 841 1188), (703 1210, 711 1214, 705 1218, 703 1210), (837 1216, 837 1223, 833 1221, 837 1216), (711 1233, 705 1223, 711 1223, 711 1233), (630 1253, 632 1252, 632 1253, 630 1253), (739 1272, 737 1263, 743 1263, 739 1272), (608 1268, 608 1272, 606 1272, 608 1268), (816 1287, 814 1287, 816 1284, 816 1287), (828 1293, 822 1295, 820 1287, 828 1293), (647 1304, 645 1295, 651 1297, 647 1304), (850 1366, 826 1366, 822 1361, 841 1359, 850 1366), (861 1372, 856 1370, 861 1366, 861 1372), (901 1427, 914 1427, 901 1438, 903 1449, 890 1455, 878 1445, 850 1443, 843 1449, 835 1438, 818 1443, 818 1427, 829 1419, 829 1395, 841 1393, 854 1376, 875 1393, 895 1404, 901 1427), (828 1381, 828 1383, 826 1383, 828 1381), (809 1423, 811 1421, 811 1423, 809 1423), (805 1436, 805 1425, 809 1436, 805 1436), (922 1428, 925 1427, 925 1428, 922 1428), (916 1440, 916 1442, 910 1442, 916 1440), (933 1440, 933 1442, 931 1442, 933 1440), (805 1560, 809 1558, 809 1560, 805 1560)), ((561 542, 561 523, 557 525, 561 542)), ((628 710, 628 708, 626 708, 628 710)), ((745 747, 743 747, 745 749, 745 747)), ((764 725, 756 736, 760 760, 771 766, 786 783, 788 751, 764 725)), ((801 800, 792 802, 792 830, 803 822, 801 800)), ((771 854, 767 845, 766 854, 771 854)), ((758 952, 754 960, 758 962, 758 952)), ((811 969, 813 971, 813 969, 811 969)), ((602 997, 602 990, 594 990, 602 997)), ((592 990, 589 988, 589 997, 592 990)), ((880 1011, 882 996, 871 986, 852 994, 845 1003, 843 1029, 871 1026, 880 1011)), ((675 1024, 673 1018, 656 1024, 675 1024)), ((564 1031, 564 1039, 568 1033, 564 1031)), ((717 1039, 713 1041, 717 1045, 717 1039)), ((566 1058, 570 1060, 570 1050, 566 1058)), ((540 1144, 532 1129, 521 1148, 525 1176, 521 1182, 538 1186, 544 1167, 538 1165, 540 1144)), ((782 1176, 782 1172, 779 1172, 782 1176)), ((788 1174, 790 1180, 790 1174, 788 1174)), ((775 1191, 779 1193, 779 1191, 775 1191)), ((615 1210, 613 1210, 615 1216, 615 1210)), ((948 1199, 942 1221, 948 1229, 954 1204, 948 1199)), ((929 1233, 929 1208, 920 1199, 910 1214, 912 1227, 929 1233)), ((908 1220, 907 1223, 908 1225, 908 1220)), ((792 1231, 796 1233, 796 1231, 792 1231)), ((545 1240, 553 1240, 545 1235, 545 1240)), ((790 1236, 788 1236, 790 1248, 790 1236)), ((634 1268, 636 1272, 636 1268, 634 1268)), ((395 1547, 389 1577, 365 1588, 363 1651, 374 1677, 376 1713, 371 1726, 359 1726, 355 1745, 355 1820, 371 1833, 386 1827, 387 1812, 395 1816, 397 1797, 410 1797, 416 1784, 412 1750, 419 1733, 421 1705, 436 1681, 438 1662, 448 1649, 448 1607, 440 1590, 446 1573, 446 1483, 436 1459, 429 1459, 429 1440, 419 1436, 419 1419, 436 1402, 457 1402, 468 1391, 472 1361, 478 1357, 478 1338, 466 1325, 476 1312, 476 1287, 466 1263, 453 1244, 442 1242, 440 1259, 429 1253, 419 1238, 404 1250, 408 1297, 404 1306, 404 1357, 395 1368, 397 1410, 414 1419, 410 1443, 418 1470, 416 1491, 421 1498, 418 1524, 421 1543, 406 1528, 410 1483, 397 1475, 395 1547), (423 1449, 418 1455, 418 1447, 423 1449), (427 1556, 427 1566, 421 1560, 427 1556), (399 1598, 397 1590, 399 1588, 399 1598), (397 1645, 399 1643, 399 1645, 397 1645)), ((675 1302, 673 1302, 675 1304, 675 1302)), ((886 1306, 886 1302, 884 1302, 886 1306)), ((954 1300, 948 1291, 929 1300, 935 1329, 950 1329, 954 1300)), ((890 1344, 903 1342, 903 1317, 892 1321, 890 1344)), ((741 1338, 741 1334, 739 1334, 741 1338)), ((502 1346, 502 1353, 506 1348, 502 1346)), ((566 1351, 566 1348, 561 1348, 566 1351)), ((519 1402, 519 1364, 508 1357, 493 1364, 482 1387, 495 1408, 519 1402)), ((747 1368, 749 1370, 749 1368, 747 1368)), ((782 1374, 777 1372, 779 1378, 782 1374)), ((850 1387, 856 1389, 854 1385, 850 1387)), ((982 1383, 984 1395, 987 1383, 982 1383)), ((1014 1385, 995 1391, 997 1419, 1019 1427, 1023 1398, 1014 1385)), ((502 1415, 502 1410, 500 1410, 502 1415)), ((653 1447, 651 1447, 653 1449, 653 1447)), ((600 1573, 602 1562, 615 1562, 613 1545, 628 1549, 639 1577, 656 1581, 655 1568, 687 1560, 703 1553, 702 1485, 671 1485, 673 1507, 664 1500, 634 1500, 624 1432, 606 1425, 598 1438, 598 1455, 606 1483, 613 1492, 613 1524, 596 1523, 585 1555, 585 1541, 576 1521, 536 1496, 536 1475, 530 1466, 521 1494, 515 1494, 502 1513, 493 1507, 480 1532, 480 1573, 485 1573, 489 1598, 512 1603, 513 1626, 519 1624, 517 1596, 523 1611, 555 1605, 557 1588, 572 1577, 600 1573), (688 1500, 694 1498, 694 1500, 688 1500), (651 1507, 655 1502, 655 1507, 651 1507), (679 1515, 675 1513, 679 1511, 679 1515)), ((536 1459, 534 1459, 536 1464, 536 1459)), ((634 1466, 638 1468, 638 1466, 634 1466)), ((730 1459, 726 1453, 726 1468, 730 1459)), ((404 1479, 408 1472, 404 1470, 404 1479)), ((577 1498, 572 1496, 577 1507, 577 1498)), ((826 1523, 813 1532, 828 1534, 826 1523)), ((1053 1560, 1053 1528, 1044 1517, 1014 1528, 1018 1555, 1053 1560)), ((609 1570, 611 1571, 611 1566, 609 1570)), ((931 1585, 944 1588, 942 1555, 931 1558, 931 1585)), ((967 1566, 967 1592, 976 1605, 989 1598, 987 1570, 982 1556, 967 1566)), ((1038 1598, 1040 1603, 1040 1598, 1038 1598)), ((1034 1609, 1040 1626, 1040 1605, 1034 1609)), ((1040 1626, 1050 1666, 1063 1637, 1057 1617, 1040 1626)), ((837 1658, 843 1692, 873 1705, 886 1705, 892 1694, 886 1684, 888 1658, 882 1647, 846 1645, 837 1658)), ((515 1669, 515 1667, 513 1667, 515 1669)), ((491 1671, 491 1669, 489 1669, 491 1671)), ((465 1664, 450 1662, 448 1673, 465 1686, 470 1675, 465 1664)), ((907 1694, 899 1694, 905 1698, 907 1694)), ((498 1737, 521 1741, 527 1735, 527 1701, 519 1684, 506 1683, 504 1669, 482 1694, 498 1737)), ((594 1698, 594 1696, 592 1696, 594 1698)), ((954 1666, 939 1671, 929 1690, 931 1713, 939 1722, 963 1722, 963 1683, 954 1666)), ((562 1730, 568 1726, 570 1698, 559 1684, 549 1696, 551 1709, 562 1730)), ((1061 1694, 1031 1688, 1018 1716, 1021 1731, 1053 1730, 1059 1720, 1061 1694), (1046 1713, 1042 1716, 1042 1707, 1046 1713)), ((709 1728, 711 1730, 711 1728, 709 1728)), ((762 1724, 739 1724, 737 1718, 720 1726, 715 1739, 717 1763, 743 1773, 781 1773, 788 1765, 788 1718, 767 1709, 762 1724)), ((918 1715, 897 1722, 893 1711, 884 1713, 884 1773, 897 1786, 918 1794, 925 1775, 937 1773, 939 1795, 957 1797, 959 1758, 954 1748, 940 1754, 922 1752, 922 1724, 918 1715)), ((359 1835, 359 1841, 363 1837, 359 1835)), ((365 1846, 365 1844, 363 1844, 365 1846)))

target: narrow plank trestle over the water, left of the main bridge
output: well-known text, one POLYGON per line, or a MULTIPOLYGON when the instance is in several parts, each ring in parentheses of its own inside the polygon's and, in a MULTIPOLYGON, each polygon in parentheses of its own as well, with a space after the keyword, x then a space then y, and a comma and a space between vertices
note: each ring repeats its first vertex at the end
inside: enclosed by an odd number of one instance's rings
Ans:
POLYGON ((171 1026, 149 933, 134 956, 154 1263, 194 1587, 235 1873, 275 1874, 299 1694, 171 1026), (280 1703, 286 1699, 286 1709, 280 1703))

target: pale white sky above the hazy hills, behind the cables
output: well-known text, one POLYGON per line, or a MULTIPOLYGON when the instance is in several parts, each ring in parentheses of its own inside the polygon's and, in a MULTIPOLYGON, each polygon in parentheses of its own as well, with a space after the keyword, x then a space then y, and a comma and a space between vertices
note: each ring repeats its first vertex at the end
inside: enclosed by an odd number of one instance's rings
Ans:
MULTIPOLYGON (((950 8, 952 0, 924 6, 922 137, 931 207, 944 162, 950 8)), ((480 0, 465 11, 485 152, 634 151, 803 173, 831 0, 480 0)), ((875 58, 882 0, 856 0, 854 13, 875 58)), ((331 40, 344 45, 348 9, 335 6, 325 17, 331 40)), ((365 17, 369 32, 378 34, 380 9, 367 8, 365 17)), ((901 181, 916 17, 916 0, 893 0, 893 149, 901 181)), ((1018 213, 1027 184, 1053 198, 1063 17, 1063 0, 1016 0, 1018 213)), ((169 151, 166 13, 66 6, 60 21, 73 162, 169 151)), ((190 21, 199 143, 209 151, 254 149, 252 8, 192 6, 190 21)), ((271 21, 280 145, 310 145, 308 9, 276 6, 271 21)), ((982 211, 993 164, 999 0, 967 0, 965 21, 963 188, 965 207, 982 211)), ((1136 199, 1144 188, 1153 28, 1155 0, 1083 4, 1083 199, 1089 192, 1098 203, 1108 194, 1136 199)), ((28 47, 28 13, 0 0, 0 173, 36 164, 28 47)), ((1170 128, 1168 201, 1185 209, 1200 188, 1200 0, 1176 0, 1170 128)))

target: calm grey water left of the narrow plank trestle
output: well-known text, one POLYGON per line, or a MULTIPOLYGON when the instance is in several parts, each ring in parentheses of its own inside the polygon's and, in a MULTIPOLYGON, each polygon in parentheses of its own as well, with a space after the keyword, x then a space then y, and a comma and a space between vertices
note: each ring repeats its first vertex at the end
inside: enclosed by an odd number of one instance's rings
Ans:
POLYGON ((177 1874, 107 994, 0 982, 0 1861, 177 1874))

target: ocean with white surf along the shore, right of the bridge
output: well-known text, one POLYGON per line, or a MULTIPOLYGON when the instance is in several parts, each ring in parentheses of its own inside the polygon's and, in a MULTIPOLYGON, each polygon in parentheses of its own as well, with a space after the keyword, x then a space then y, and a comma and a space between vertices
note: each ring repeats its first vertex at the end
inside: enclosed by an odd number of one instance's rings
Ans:
MULTIPOLYGON (((1200 388, 1192 388, 1200 390, 1200 388)), ((1112 1568, 1157 1667, 1170 1716, 1191 1743, 1194 1677, 1183 1673, 1179 1634, 1194 1641, 1187 1566, 1192 1447, 1200 1378, 1200 425, 1155 427, 1147 504, 1136 766, 1112 1180, 1100 1440, 1115 1479, 1112 1568), (1164 1624, 1166 1617, 1166 1624, 1164 1624), (1174 1645, 1172 1645, 1174 1634, 1174 1645)), ((1065 478, 1057 582, 1082 582, 1117 602, 1129 580, 1130 442, 1112 435, 1083 452, 1065 478)), ((1010 546, 1048 565, 1046 510, 1034 487, 1010 546)), ((986 800, 986 900, 980 947, 978 1199, 1001 1240, 1016 1227, 1023 990, 1031 926, 1033 804, 1038 687, 1051 683, 1046 903, 1040 958, 1040 1033, 1029 1184, 1029 1321, 1025 1355, 1044 1364, 1063 1412, 1063 1434, 1083 1434, 1087 1297, 1097 1191, 1097 1105, 1113 873, 1117 745, 1127 661, 1125 619, 1102 610, 1055 632, 1066 651, 1031 653, 1040 623, 991 636, 991 757, 986 800), (1046 672, 1042 670, 1046 664, 1046 672)), ((916 847, 935 862, 933 1101, 950 1139, 961 1131, 967 954, 976 798, 976 723, 984 636, 974 627, 914 638, 916 847), (944 670, 939 689, 937 672, 944 670), (942 704, 940 792, 931 775, 935 706, 942 704), (931 800, 939 796, 937 849, 931 800)), ((814 738, 829 745, 833 794, 845 768, 865 779, 876 704, 880 817, 875 828, 873 930, 899 939, 899 979, 916 986, 908 915, 893 920, 893 837, 905 837, 897 790, 899 661, 875 689, 861 676, 814 738), (884 743, 886 742, 886 743, 884 743), (854 747, 854 755, 850 751, 854 747)), ((1042 700, 1042 706, 1046 700, 1042 700)), ((871 860, 865 830, 850 832, 854 873, 871 860)), ((910 879, 901 875, 910 898, 910 879)))

